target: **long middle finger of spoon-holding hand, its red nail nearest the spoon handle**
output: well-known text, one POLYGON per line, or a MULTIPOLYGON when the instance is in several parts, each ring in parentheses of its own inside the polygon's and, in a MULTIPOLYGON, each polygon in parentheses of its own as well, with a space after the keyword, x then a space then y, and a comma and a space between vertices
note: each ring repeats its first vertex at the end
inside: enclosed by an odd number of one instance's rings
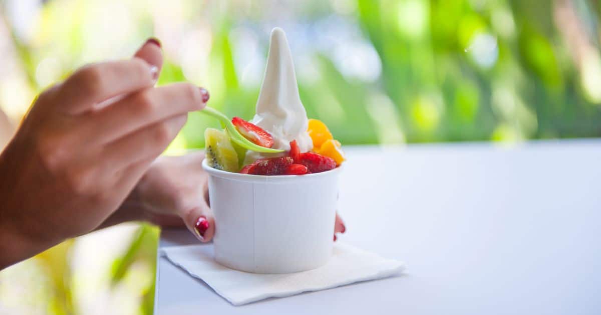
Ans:
POLYGON ((84 117, 82 133, 90 135, 88 139, 109 143, 168 117, 203 109, 205 94, 203 88, 188 83, 142 90, 84 117))

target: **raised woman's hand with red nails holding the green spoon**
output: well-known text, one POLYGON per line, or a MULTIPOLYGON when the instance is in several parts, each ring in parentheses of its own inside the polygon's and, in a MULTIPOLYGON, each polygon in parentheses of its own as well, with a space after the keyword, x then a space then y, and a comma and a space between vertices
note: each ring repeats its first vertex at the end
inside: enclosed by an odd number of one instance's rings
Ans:
POLYGON ((156 40, 130 60, 82 67, 41 93, 0 155, 0 269, 84 234, 115 211, 209 98, 153 88, 156 40))

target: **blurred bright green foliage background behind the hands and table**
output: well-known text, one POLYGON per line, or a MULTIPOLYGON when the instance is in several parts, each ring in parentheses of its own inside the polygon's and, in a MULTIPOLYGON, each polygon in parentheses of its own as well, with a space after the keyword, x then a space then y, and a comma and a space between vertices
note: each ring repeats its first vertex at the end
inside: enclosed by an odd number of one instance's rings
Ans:
MULTIPOLYGON (((165 52, 159 85, 191 81, 249 119, 279 26, 308 115, 343 145, 601 135, 597 1, 0 3, 0 108, 13 126, 45 87, 150 36, 165 52)), ((192 114, 168 151, 202 148, 206 126, 192 114)), ((158 233, 121 225, 0 272, 0 313, 151 313, 158 233)))

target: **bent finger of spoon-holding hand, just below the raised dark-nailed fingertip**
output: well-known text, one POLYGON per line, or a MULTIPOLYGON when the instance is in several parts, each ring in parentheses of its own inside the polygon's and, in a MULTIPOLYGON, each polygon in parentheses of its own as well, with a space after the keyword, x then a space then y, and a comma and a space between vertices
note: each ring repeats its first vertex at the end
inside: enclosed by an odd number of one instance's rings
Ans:
POLYGON ((151 87, 157 71, 140 58, 84 66, 61 84, 59 95, 66 100, 61 110, 84 113, 106 99, 151 87))

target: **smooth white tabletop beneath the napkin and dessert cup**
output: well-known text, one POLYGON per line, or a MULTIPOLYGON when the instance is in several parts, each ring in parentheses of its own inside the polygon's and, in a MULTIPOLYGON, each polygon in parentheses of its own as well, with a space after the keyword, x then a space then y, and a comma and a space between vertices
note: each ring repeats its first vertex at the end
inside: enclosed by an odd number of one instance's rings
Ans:
MULTIPOLYGON (((155 313, 601 313, 601 140, 347 155, 340 239, 405 275, 234 307, 159 257, 155 313)), ((160 246, 194 242, 165 230, 160 246)))

